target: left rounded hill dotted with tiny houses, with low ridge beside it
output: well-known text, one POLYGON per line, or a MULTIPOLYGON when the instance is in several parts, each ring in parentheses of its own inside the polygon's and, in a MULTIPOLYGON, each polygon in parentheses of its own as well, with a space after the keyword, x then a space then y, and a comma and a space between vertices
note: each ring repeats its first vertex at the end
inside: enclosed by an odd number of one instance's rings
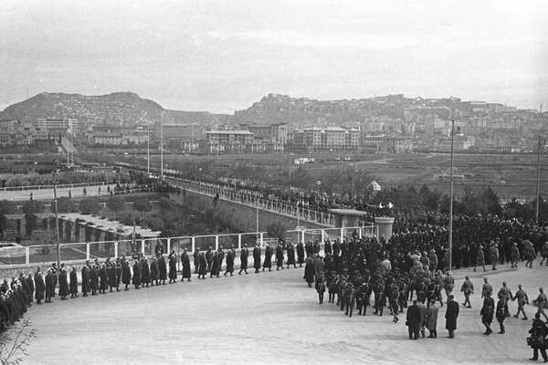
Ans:
POLYGON ((5 108, 0 120, 76 118, 89 124, 131 125, 159 122, 162 112, 164 122, 171 123, 224 124, 230 118, 207 111, 163 110, 158 103, 133 92, 93 96, 44 92, 5 108))

